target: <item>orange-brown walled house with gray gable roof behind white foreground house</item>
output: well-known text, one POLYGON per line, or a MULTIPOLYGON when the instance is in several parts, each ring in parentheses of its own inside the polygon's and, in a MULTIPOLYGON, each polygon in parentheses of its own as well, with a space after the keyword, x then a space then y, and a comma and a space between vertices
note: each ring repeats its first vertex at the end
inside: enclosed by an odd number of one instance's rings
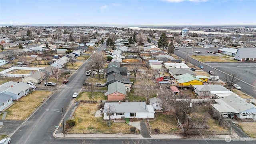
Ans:
POLYGON ((108 85, 108 101, 123 101, 126 99, 126 91, 127 88, 125 84, 122 82, 113 82, 112 84, 108 85))

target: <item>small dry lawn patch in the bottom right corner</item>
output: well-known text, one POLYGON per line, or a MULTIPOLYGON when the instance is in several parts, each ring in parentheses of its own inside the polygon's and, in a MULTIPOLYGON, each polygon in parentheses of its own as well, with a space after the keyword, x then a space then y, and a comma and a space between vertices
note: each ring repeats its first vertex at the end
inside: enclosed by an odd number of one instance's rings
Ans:
POLYGON ((256 138, 256 123, 255 122, 239 122, 239 126, 242 127, 242 130, 248 134, 251 138, 256 138))

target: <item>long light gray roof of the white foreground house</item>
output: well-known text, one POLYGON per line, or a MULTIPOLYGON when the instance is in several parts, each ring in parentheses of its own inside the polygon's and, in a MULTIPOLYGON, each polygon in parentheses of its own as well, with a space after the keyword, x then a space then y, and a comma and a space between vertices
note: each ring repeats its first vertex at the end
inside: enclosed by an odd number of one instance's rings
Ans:
POLYGON ((112 112, 148 112, 146 102, 106 102, 104 113, 108 111, 109 106, 113 106, 112 112))

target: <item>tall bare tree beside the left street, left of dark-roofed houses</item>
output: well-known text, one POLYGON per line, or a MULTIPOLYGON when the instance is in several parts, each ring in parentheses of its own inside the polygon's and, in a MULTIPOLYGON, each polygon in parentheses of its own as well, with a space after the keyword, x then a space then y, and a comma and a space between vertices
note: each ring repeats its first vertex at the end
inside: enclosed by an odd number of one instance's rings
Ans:
POLYGON ((100 80, 100 70, 104 68, 104 64, 106 61, 106 57, 101 52, 96 52, 91 56, 91 60, 89 62, 89 65, 91 67, 94 67, 93 71, 96 71, 98 74, 98 80, 100 80))

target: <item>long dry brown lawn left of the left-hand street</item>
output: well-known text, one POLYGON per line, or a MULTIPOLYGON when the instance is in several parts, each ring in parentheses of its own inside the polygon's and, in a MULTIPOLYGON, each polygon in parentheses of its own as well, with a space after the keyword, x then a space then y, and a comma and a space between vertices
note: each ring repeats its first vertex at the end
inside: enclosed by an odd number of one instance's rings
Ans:
POLYGON ((36 90, 22 97, 18 101, 14 101, 10 108, 6 110, 7 120, 25 120, 48 98, 52 92, 36 90))

